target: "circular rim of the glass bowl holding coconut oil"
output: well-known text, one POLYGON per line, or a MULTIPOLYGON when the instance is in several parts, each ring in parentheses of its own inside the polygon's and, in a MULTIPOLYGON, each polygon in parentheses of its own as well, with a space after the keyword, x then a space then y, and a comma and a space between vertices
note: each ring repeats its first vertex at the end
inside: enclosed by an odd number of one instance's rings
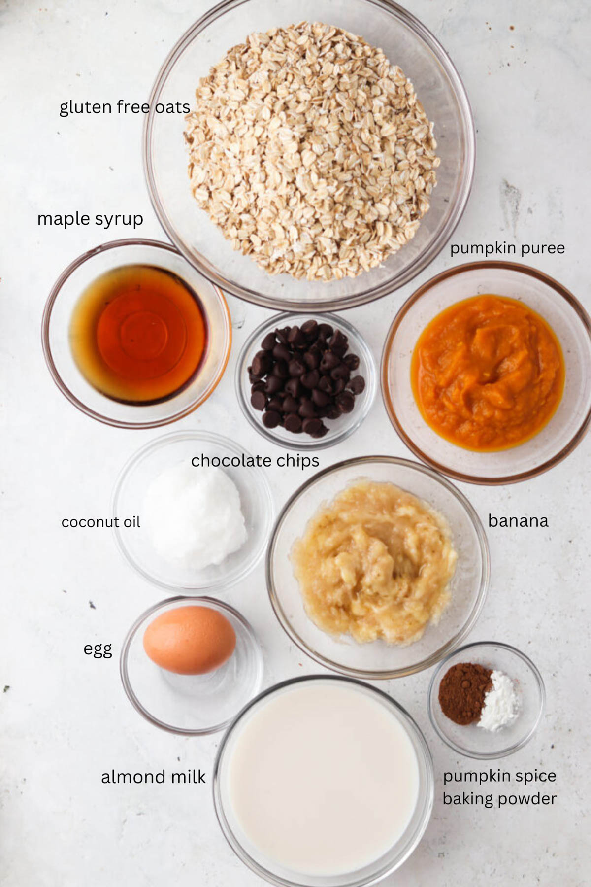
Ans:
MULTIPOLYGON (((229 437, 216 434, 214 431, 199 430, 197 428, 187 428, 185 430, 172 431, 167 435, 155 437, 151 441, 144 443, 143 446, 139 447, 138 450, 134 451, 121 468, 121 471, 119 472, 119 475, 117 476, 117 479, 114 483, 113 493, 111 496, 109 513, 112 514, 113 517, 117 516, 117 507, 119 505, 119 499, 121 496, 121 487, 127 479, 131 470, 136 467, 136 465, 144 458, 146 454, 150 453, 151 451, 156 451, 163 447, 167 447, 168 444, 175 443, 176 441, 181 440, 205 440, 209 443, 218 443, 235 455, 244 454, 249 458, 253 458, 251 456, 251 453, 246 450, 245 447, 240 446, 239 444, 230 440, 229 437)), ((261 540, 259 542, 259 545, 257 546, 256 552, 253 554, 253 558, 250 561, 246 562, 241 569, 237 570, 235 573, 230 573, 227 577, 219 577, 213 582, 206 583, 205 585, 178 585, 178 583, 164 582, 163 580, 153 577, 151 573, 149 573, 146 569, 144 569, 144 567, 137 563, 137 561, 128 552, 128 547, 123 543, 119 528, 113 525, 113 536, 115 538, 115 542, 117 544, 117 547, 119 548, 119 551, 123 555, 124 560, 131 565, 131 567, 139 576, 146 579, 148 582, 151 583, 151 585, 157 585, 159 588, 164 588, 167 591, 177 593, 185 592, 185 596, 189 597, 197 592, 216 591, 217 593, 221 593, 224 587, 237 585, 239 582, 242 582, 243 579, 253 571, 259 561, 261 561, 261 557, 265 552, 265 545, 268 538, 268 533, 273 526, 273 515, 275 513, 274 499, 271 493, 270 485, 268 483, 267 475, 258 466, 249 466, 249 468, 253 472, 253 474, 256 475, 258 486, 261 489, 261 496, 265 500, 264 512, 266 515, 266 531, 261 532, 261 540)))

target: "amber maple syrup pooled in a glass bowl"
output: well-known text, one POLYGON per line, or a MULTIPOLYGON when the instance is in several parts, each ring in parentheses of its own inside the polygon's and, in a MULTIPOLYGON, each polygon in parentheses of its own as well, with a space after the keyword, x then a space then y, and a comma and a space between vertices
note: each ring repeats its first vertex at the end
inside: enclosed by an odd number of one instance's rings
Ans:
POLYGON ((204 310, 172 271, 123 265, 87 287, 70 321, 70 347, 92 385, 125 404, 154 404, 196 377, 207 345, 204 310))

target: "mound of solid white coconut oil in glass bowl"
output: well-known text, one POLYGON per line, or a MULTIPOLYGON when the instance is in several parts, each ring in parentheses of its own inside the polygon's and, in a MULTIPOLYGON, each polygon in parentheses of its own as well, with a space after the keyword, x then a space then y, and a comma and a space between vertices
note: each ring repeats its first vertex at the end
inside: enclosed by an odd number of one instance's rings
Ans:
POLYGON ((195 570, 222 563, 248 535, 232 479, 222 468, 195 468, 189 462, 154 478, 142 521, 161 557, 195 570))

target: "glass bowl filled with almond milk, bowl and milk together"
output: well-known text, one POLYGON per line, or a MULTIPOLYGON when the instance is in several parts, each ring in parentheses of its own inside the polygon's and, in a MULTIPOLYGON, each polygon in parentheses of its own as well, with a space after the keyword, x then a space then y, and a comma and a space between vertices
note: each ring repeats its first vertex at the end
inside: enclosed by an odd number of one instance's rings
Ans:
POLYGON ((432 757, 415 721, 361 681, 312 675, 269 687, 240 712, 214 765, 230 847, 283 887, 362 887, 424 835, 432 757))

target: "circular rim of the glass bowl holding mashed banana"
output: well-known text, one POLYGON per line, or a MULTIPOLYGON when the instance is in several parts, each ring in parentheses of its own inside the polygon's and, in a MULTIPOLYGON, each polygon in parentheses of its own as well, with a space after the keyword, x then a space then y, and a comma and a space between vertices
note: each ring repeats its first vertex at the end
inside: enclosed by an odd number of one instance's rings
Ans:
POLYGON ((478 616, 480 616, 480 613, 482 612, 482 608, 484 607, 486 600, 486 593, 488 592, 488 586, 490 584, 490 572, 490 551, 488 548, 488 540, 486 539, 484 527, 482 526, 482 522, 480 521, 476 510, 473 506, 470 505, 470 502, 463 495, 463 492, 458 490, 453 483, 448 481, 447 477, 439 475, 436 471, 433 471, 432 468, 425 466, 420 462, 413 462, 410 459, 400 459, 397 456, 356 456, 352 459, 343 459, 343 461, 337 462, 334 465, 329 466, 328 468, 323 468, 322 471, 316 472, 315 475, 307 478, 304 483, 300 484, 300 486, 292 494, 292 496, 288 498, 281 512, 277 515, 275 525, 273 527, 273 530, 271 531, 271 536, 269 538, 267 553, 265 555, 265 578, 267 581, 268 597, 279 624, 284 629, 284 632, 287 634, 290 640, 292 640, 292 642, 303 653, 305 653, 311 659, 314 659, 315 662, 323 665, 325 668, 330 669, 330 671, 336 671, 339 675, 345 675, 349 678, 362 680, 390 680, 394 678, 406 678, 411 674, 416 674, 417 672, 423 671, 426 668, 431 668, 432 665, 439 663, 439 661, 445 656, 453 654, 455 650, 460 647, 464 638, 470 633, 478 620, 478 616), (328 656, 317 653, 315 650, 308 647, 306 641, 299 637, 299 634, 295 632, 289 619, 284 614, 284 609, 282 608, 281 603, 277 597, 276 588, 273 582, 272 569, 277 535, 279 533, 279 530, 281 530, 284 521, 287 518, 287 515, 291 511, 293 503, 296 501, 297 498, 299 498, 301 493, 306 491, 308 487, 311 487, 316 481, 320 480, 326 475, 336 474, 342 468, 346 467, 362 467, 370 462, 380 462, 382 464, 387 463, 389 465, 410 468, 411 471, 418 471, 421 474, 427 475, 428 477, 431 477, 433 481, 445 487, 446 490, 456 498, 460 505, 463 506, 464 511, 470 519, 470 524, 473 527, 478 538, 478 552, 480 554, 480 563, 482 568, 482 575, 480 577, 480 584, 478 587, 476 600, 474 601, 474 604, 472 605, 472 608, 470 610, 470 615, 468 616, 466 622, 463 624, 462 628, 460 628, 458 632, 455 632, 455 635, 447 640, 447 642, 443 644, 442 647, 440 647, 438 650, 435 650, 434 653, 426 656, 424 659, 419 660, 419 662, 408 665, 404 668, 380 671, 367 671, 351 668, 347 665, 341 665, 334 662, 332 659, 329 659, 328 656))

